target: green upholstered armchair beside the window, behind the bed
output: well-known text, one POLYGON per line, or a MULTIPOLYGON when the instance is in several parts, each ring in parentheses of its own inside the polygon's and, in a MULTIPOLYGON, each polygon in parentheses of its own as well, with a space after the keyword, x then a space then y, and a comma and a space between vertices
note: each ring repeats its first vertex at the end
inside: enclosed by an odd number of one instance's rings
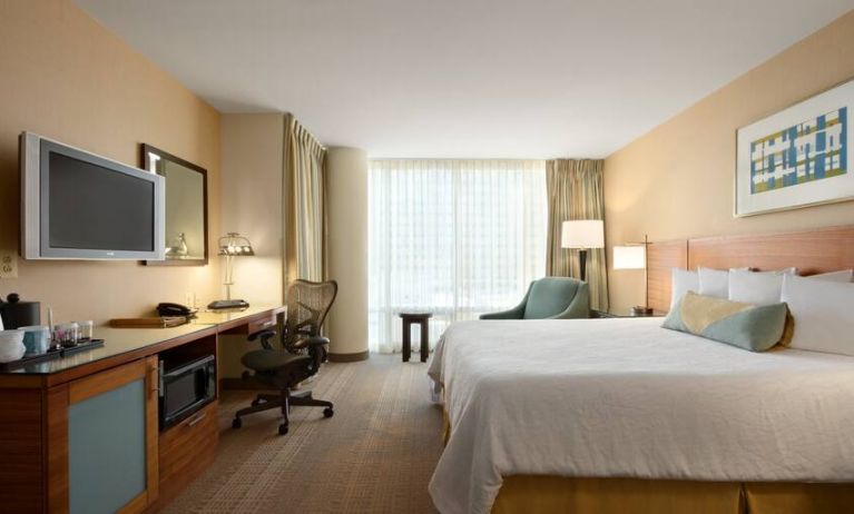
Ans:
POLYGON ((510 310, 489 313, 481 319, 575 319, 590 317, 587 283, 568 277, 533 280, 522 302, 510 310))

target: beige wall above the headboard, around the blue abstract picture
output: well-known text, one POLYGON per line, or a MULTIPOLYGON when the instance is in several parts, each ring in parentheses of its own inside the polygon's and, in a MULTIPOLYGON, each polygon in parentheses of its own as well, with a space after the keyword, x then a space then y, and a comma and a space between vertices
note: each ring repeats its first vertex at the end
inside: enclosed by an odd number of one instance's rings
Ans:
MULTIPOLYGON (((854 223, 854 202, 733 217, 736 129, 854 77, 854 11, 605 161, 606 238, 755 234, 854 223)), ((642 273, 609 270, 611 305, 642 303, 642 273)))

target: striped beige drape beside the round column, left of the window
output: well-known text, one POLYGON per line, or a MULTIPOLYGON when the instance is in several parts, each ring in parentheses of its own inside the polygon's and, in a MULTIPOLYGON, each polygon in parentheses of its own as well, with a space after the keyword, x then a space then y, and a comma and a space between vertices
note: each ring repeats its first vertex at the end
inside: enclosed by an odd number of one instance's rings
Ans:
POLYGON ((293 115, 285 115, 285 290, 296 278, 326 278, 325 160, 326 149, 293 115))

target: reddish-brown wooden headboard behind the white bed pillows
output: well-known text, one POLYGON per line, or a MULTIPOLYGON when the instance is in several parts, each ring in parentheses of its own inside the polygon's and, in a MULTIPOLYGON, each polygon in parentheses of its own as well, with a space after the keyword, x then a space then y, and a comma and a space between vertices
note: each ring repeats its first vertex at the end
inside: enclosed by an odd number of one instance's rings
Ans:
POLYGON ((801 275, 854 268, 854 226, 652 243, 647 265, 649 306, 668 310, 673 268, 749 267, 762 271, 794 266, 801 275))

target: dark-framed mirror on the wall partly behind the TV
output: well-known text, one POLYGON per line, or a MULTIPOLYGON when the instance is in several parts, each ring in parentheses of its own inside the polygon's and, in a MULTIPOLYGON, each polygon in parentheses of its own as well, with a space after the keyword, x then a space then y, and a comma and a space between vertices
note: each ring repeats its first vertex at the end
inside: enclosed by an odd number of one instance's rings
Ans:
POLYGON ((193 162, 143 145, 143 169, 166 179, 166 260, 148 266, 207 264, 207 170, 193 162))

